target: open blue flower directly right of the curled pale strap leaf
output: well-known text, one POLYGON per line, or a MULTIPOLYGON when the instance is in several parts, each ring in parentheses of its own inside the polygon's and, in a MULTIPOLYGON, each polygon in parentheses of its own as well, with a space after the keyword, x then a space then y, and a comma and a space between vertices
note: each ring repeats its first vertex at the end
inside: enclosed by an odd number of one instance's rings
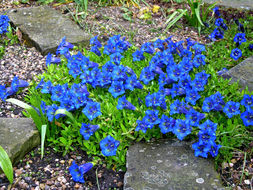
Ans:
POLYGON ((86 117, 92 121, 93 119, 95 119, 96 117, 102 115, 101 111, 100 111, 100 103, 98 102, 91 102, 89 101, 85 108, 82 110, 82 112, 84 113, 84 115, 86 115, 86 117))

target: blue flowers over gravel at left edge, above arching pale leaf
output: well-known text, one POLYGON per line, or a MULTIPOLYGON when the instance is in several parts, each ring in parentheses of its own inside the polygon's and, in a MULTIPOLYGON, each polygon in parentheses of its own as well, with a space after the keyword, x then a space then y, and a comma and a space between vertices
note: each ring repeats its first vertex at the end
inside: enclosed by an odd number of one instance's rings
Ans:
POLYGON ((5 101, 8 96, 12 96, 16 94, 19 90, 19 88, 28 87, 29 83, 18 79, 17 76, 15 76, 12 79, 11 86, 5 87, 5 85, 0 85, 0 98, 5 101))

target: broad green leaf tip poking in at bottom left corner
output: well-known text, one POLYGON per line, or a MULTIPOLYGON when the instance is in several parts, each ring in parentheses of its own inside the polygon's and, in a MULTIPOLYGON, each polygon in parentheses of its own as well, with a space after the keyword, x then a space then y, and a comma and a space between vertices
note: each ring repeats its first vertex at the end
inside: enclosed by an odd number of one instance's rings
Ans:
POLYGON ((0 145, 0 167, 5 173, 10 183, 13 183, 13 168, 12 163, 8 154, 5 152, 3 147, 0 145))

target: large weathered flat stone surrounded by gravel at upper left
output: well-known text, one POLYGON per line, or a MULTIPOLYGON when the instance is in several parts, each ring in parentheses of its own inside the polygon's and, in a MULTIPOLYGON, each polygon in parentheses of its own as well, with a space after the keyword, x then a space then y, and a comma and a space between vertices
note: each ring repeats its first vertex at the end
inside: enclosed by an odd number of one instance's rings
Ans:
POLYGON ((7 13, 29 46, 43 55, 55 53, 62 38, 72 44, 88 45, 89 36, 79 26, 49 6, 13 9, 7 13))

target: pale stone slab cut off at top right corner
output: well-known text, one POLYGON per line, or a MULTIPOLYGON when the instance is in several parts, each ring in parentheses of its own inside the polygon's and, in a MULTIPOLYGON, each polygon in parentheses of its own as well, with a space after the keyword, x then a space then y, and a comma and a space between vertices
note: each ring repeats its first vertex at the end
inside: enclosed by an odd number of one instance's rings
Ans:
MULTIPOLYGON (((217 0, 203 0, 203 2, 211 4, 217 2, 217 0)), ((222 0, 218 3, 219 5, 236 9, 253 10, 253 0, 222 0)))

